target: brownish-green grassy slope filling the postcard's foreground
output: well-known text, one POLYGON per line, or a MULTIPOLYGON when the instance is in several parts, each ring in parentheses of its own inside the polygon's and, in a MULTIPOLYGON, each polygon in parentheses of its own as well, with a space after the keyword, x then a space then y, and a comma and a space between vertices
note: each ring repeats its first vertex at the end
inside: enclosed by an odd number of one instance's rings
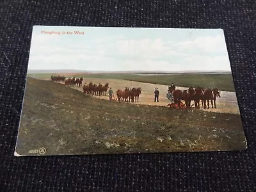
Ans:
POLYGON ((45 155, 241 150, 236 114, 131 105, 28 78, 16 152, 45 155))

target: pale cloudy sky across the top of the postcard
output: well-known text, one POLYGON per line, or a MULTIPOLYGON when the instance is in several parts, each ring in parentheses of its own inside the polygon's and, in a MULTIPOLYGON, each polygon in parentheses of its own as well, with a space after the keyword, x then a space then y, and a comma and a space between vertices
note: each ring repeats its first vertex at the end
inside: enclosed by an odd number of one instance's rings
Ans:
POLYGON ((230 63, 222 29, 34 26, 28 69, 230 71, 230 63))

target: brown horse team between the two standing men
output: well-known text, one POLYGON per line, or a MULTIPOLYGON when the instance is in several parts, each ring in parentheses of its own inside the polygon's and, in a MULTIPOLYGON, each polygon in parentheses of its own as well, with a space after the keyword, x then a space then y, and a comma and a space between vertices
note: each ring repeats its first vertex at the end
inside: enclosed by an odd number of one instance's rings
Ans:
POLYGON ((118 99, 118 102, 121 101, 121 99, 123 101, 128 101, 129 98, 129 102, 139 102, 139 96, 141 93, 141 88, 127 88, 125 87, 125 90, 117 90, 116 91, 116 96, 118 99))

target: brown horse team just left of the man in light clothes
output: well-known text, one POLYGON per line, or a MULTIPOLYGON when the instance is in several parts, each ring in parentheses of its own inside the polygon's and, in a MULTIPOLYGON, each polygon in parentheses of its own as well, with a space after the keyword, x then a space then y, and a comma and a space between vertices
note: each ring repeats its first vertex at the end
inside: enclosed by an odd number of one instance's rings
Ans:
POLYGON ((102 85, 101 83, 93 84, 91 82, 89 84, 84 84, 83 93, 92 94, 92 95, 107 95, 108 88, 109 88, 109 83, 102 85))

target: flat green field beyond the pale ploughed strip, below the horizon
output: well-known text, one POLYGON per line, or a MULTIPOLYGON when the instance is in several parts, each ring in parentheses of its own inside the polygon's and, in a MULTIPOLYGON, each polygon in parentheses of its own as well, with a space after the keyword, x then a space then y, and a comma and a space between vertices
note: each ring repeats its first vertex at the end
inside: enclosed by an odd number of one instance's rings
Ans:
MULTIPOLYGON (((51 74, 29 74, 29 77, 39 79, 51 78, 51 74)), ((176 86, 202 86, 204 88, 219 88, 222 91, 235 92, 232 74, 168 74, 141 76, 138 74, 77 74, 70 77, 124 79, 143 83, 155 83, 176 86)))

